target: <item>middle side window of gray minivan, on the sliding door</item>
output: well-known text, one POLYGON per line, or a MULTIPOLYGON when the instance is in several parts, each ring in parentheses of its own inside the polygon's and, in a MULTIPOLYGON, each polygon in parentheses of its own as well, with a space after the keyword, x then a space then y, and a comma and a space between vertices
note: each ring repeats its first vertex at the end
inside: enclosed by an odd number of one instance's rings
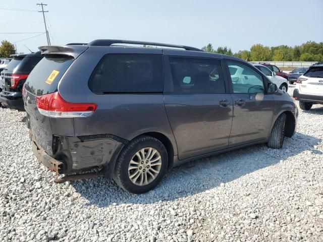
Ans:
POLYGON ((172 93, 225 93, 221 62, 216 59, 170 57, 172 93))

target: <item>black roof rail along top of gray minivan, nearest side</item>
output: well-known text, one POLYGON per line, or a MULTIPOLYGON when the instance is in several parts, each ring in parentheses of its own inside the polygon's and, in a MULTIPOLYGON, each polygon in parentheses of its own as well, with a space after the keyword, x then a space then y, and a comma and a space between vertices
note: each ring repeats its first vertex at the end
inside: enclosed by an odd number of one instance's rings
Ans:
POLYGON ((132 41, 132 40, 121 40, 121 39, 96 39, 88 43, 88 45, 91 45, 91 46, 110 46, 112 44, 142 44, 142 45, 145 44, 145 45, 153 45, 153 46, 181 48, 185 50, 203 51, 201 49, 186 46, 186 45, 163 44, 163 43, 155 43, 155 42, 132 41))

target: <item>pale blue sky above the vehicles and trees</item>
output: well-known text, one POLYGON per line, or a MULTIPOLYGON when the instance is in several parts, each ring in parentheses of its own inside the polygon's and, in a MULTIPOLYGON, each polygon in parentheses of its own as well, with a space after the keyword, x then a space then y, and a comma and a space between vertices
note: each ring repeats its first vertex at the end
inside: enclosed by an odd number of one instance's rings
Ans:
MULTIPOLYGON (((0 32, 44 32, 40 1, 0 2, 0 32), (4 9, 5 8, 5 9, 4 9), (7 8, 34 10, 13 11, 7 8)), ((234 52, 252 44, 299 45, 323 41, 323 1, 62 1, 43 0, 49 12, 51 43, 89 42, 98 38, 128 39, 201 48, 228 46, 234 52), (310 4, 309 4, 310 3, 310 4)), ((1 34, 16 42, 37 34, 1 34)), ((37 50, 45 35, 17 42, 37 50)))

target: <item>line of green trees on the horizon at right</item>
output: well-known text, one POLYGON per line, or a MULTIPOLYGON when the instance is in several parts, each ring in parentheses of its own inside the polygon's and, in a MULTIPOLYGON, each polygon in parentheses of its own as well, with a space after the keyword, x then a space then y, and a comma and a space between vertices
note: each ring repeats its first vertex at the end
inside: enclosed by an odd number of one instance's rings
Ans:
POLYGON ((250 50, 239 50, 233 53, 231 48, 218 47, 213 49, 212 44, 202 47, 202 50, 211 53, 227 54, 244 59, 247 62, 275 61, 275 62, 320 62, 323 61, 323 42, 307 41, 294 47, 279 45, 274 47, 254 44, 250 50))

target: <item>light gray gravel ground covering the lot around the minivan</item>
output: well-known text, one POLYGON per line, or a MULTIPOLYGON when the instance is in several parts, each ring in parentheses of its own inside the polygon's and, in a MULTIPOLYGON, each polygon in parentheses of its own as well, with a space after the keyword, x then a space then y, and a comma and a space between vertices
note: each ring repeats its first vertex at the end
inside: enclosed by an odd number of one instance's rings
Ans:
POLYGON ((0 108, 0 241, 323 241, 322 116, 300 110, 283 149, 192 161, 131 195, 104 178, 53 183, 25 113, 0 108))

